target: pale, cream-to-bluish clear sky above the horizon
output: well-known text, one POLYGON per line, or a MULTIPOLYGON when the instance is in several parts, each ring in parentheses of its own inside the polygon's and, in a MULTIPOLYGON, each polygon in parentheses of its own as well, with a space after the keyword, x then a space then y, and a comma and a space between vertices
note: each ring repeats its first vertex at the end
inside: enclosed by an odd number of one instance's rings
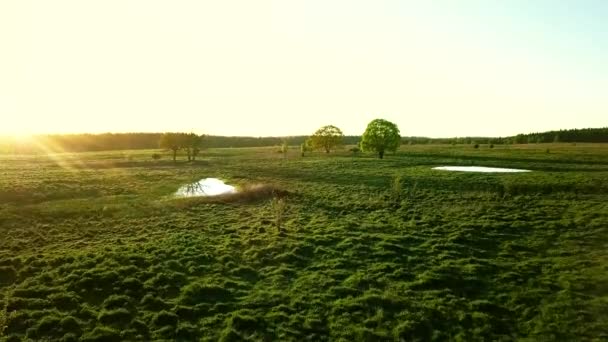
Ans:
POLYGON ((0 134, 608 126, 608 1, 1 0, 0 134))

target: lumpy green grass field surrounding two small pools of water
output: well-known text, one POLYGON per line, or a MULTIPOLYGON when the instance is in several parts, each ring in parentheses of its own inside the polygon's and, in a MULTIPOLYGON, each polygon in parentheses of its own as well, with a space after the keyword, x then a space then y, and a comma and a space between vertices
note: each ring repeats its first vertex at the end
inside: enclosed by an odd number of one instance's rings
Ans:
POLYGON ((0 340, 608 340, 608 145, 154 152, 0 156, 0 340))

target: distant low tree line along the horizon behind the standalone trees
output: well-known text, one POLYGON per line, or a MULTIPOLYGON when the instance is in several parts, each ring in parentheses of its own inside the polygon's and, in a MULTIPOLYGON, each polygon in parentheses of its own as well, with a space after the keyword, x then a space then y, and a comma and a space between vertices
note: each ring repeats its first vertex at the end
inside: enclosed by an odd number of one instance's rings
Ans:
MULTIPOLYGON (((180 133, 181 134, 181 133, 180 133)), ((53 134, 37 135, 31 140, 19 140, 0 137, 0 153, 45 153, 45 152, 88 152, 109 150, 155 149, 160 147, 163 133, 104 133, 104 134, 53 134)), ((220 147, 264 147, 290 146, 305 144, 309 136, 291 137, 229 137, 205 135, 200 145, 190 148, 190 158, 196 158, 196 149, 220 147)), ((343 145, 357 145, 361 136, 345 135, 341 138, 343 145)), ((512 137, 457 137, 427 138, 401 137, 404 145, 417 144, 535 144, 551 142, 608 142, 608 127, 568 129, 542 133, 518 134, 512 137)), ((180 149, 182 149, 180 147, 180 149)), ((184 151, 187 152, 187 149, 184 151)))

